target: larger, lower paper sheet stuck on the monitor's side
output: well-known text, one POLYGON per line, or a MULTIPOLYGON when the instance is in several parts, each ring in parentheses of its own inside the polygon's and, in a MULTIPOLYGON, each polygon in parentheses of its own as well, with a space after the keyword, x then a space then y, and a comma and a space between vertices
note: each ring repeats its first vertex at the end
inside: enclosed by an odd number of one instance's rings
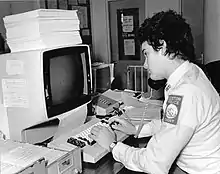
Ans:
POLYGON ((28 108, 27 82, 25 79, 2 79, 4 107, 28 108))

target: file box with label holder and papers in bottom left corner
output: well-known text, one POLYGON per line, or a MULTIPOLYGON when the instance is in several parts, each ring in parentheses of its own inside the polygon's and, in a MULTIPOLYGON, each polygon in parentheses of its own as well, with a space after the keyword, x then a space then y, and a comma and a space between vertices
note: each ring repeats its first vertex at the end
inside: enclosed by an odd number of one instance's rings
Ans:
POLYGON ((19 170, 44 158, 46 160, 45 174, 77 174, 82 172, 81 152, 79 148, 75 148, 70 152, 64 152, 28 143, 1 140, 0 152, 1 160, 5 164, 21 166, 22 168, 20 167, 19 170))

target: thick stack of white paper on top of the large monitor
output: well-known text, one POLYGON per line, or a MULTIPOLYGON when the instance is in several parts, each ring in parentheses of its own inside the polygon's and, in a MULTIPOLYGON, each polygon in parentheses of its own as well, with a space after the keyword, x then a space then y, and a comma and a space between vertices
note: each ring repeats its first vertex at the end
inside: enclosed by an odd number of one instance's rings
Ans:
POLYGON ((38 9, 3 20, 11 52, 82 43, 76 10, 38 9))

